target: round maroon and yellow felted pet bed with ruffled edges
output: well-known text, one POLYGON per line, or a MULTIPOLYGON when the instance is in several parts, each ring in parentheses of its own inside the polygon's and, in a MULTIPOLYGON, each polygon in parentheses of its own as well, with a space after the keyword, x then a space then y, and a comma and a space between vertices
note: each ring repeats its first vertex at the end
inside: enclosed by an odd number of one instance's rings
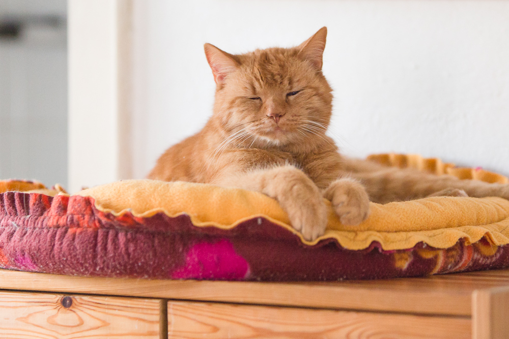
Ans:
MULTIPOLYGON (((489 182, 482 169, 379 155, 380 163, 489 182)), ((158 279, 333 281, 509 266, 509 201, 433 197, 371 204, 359 226, 329 204, 326 233, 304 240, 278 203, 210 184, 125 180, 69 196, 0 181, 0 267, 158 279)))

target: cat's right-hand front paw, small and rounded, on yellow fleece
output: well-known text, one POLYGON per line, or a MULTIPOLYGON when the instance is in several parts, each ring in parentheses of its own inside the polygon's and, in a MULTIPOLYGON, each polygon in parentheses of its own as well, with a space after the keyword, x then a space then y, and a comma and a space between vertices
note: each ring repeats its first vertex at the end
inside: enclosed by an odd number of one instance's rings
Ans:
POLYGON ((351 179, 333 181, 324 193, 344 225, 359 225, 370 214, 370 198, 364 187, 351 179))

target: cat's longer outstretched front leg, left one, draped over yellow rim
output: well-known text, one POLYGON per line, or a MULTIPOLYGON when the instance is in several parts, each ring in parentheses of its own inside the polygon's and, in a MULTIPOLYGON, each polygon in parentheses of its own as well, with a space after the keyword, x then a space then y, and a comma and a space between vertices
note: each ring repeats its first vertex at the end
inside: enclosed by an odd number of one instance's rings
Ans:
POLYGON ((327 210, 315 183, 291 165, 223 175, 215 183, 258 191, 276 199, 290 222, 305 239, 314 240, 325 232, 327 210))

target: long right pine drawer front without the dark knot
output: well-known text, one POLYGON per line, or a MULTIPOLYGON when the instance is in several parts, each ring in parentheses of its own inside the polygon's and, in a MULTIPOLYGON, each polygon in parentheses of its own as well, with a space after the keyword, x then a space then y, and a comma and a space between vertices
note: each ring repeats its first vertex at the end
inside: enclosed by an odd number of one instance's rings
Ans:
POLYGON ((468 318, 168 302, 168 338, 470 338, 468 318))

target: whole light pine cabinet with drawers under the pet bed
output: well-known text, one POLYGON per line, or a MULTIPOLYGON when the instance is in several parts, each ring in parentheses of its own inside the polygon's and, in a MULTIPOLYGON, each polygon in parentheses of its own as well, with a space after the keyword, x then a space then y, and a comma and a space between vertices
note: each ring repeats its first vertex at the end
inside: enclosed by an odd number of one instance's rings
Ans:
POLYGON ((509 270, 257 283, 0 269, 0 338, 35 337, 507 339, 509 270))

